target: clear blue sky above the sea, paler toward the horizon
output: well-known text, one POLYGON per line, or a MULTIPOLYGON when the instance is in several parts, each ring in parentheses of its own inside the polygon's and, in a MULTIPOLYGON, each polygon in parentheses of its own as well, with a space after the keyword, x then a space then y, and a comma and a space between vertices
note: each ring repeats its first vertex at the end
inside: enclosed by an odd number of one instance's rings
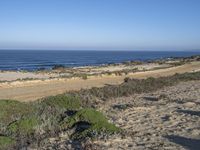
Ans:
POLYGON ((0 49, 200 49, 200 0, 1 0, 0 49))

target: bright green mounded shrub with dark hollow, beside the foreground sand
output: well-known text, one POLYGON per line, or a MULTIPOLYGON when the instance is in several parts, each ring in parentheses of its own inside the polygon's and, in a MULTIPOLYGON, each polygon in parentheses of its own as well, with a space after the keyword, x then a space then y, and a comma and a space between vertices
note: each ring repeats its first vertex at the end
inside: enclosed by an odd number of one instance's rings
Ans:
POLYGON ((73 139, 84 138, 87 136, 93 137, 101 133, 113 134, 121 130, 114 124, 109 123, 102 113, 91 108, 78 111, 74 116, 64 120, 61 126, 63 128, 71 128, 80 122, 89 124, 89 127, 81 132, 75 132, 72 135, 73 139))

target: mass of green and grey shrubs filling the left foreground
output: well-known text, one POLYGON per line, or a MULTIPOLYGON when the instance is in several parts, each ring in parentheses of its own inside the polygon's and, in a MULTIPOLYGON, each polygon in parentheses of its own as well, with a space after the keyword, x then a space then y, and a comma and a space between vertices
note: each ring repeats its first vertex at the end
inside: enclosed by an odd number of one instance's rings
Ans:
POLYGON ((81 128, 80 122, 89 127, 82 132, 75 130, 71 135, 74 140, 120 132, 101 112, 82 107, 78 97, 68 94, 33 103, 1 100, 0 106, 0 147, 4 149, 20 149, 59 132, 81 128))

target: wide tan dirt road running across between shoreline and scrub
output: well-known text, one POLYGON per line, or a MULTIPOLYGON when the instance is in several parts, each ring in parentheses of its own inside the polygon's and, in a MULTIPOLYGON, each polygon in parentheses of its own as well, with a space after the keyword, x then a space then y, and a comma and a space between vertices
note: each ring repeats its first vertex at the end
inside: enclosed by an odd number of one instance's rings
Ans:
POLYGON ((122 76, 102 76, 82 79, 52 79, 45 81, 17 81, 0 84, 0 99, 15 99, 33 101, 42 97, 61 94, 66 91, 82 88, 101 87, 105 84, 120 84, 125 77, 147 78, 168 76, 175 73, 184 73, 200 70, 200 62, 192 62, 178 67, 159 69, 154 71, 138 72, 122 76))

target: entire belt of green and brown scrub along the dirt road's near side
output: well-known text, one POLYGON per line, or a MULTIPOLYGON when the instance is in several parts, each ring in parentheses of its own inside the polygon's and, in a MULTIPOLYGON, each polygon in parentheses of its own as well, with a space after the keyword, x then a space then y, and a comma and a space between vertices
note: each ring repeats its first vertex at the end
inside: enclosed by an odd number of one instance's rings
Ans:
MULTIPOLYGON (((65 93, 30 103, 0 100, 0 147, 19 149, 32 143, 39 145, 43 139, 65 131, 71 131, 69 138, 72 140, 121 133, 123 130, 98 110, 97 100, 104 102, 110 98, 152 92, 190 80, 200 80, 200 72, 141 80, 125 78, 120 85, 65 93)), ((114 109, 127 107, 131 106, 113 106, 114 109)))

